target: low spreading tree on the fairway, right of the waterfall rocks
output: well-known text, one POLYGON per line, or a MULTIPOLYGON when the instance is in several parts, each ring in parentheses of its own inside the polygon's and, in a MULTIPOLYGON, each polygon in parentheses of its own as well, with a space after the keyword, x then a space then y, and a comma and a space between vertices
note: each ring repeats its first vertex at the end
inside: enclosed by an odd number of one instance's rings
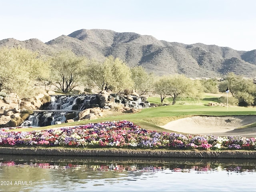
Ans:
POLYGON ((163 76, 155 86, 157 93, 161 95, 161 102, 167 95, 172 97, 172 104, 176 103, 178 96, 197 98, 200 96, 202 86, 199 81, 194 81, 181 74, 163 76))

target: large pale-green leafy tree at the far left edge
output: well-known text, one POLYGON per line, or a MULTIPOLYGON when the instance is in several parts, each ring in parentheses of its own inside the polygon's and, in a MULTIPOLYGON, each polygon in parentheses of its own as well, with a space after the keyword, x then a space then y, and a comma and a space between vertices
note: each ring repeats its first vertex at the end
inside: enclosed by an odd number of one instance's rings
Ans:
POLYGON ((36 80, 49 78, 49 60, 24 48, 0 48, 0 91, 32 96, 36 80))

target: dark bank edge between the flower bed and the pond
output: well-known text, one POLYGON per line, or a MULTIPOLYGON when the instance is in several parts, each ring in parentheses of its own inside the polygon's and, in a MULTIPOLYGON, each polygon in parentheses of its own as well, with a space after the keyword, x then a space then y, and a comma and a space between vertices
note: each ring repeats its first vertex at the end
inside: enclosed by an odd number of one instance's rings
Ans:
POLYGON ((119 150, 119 149, 56 149, 2 147, 0 154, 33 156, 84 156, 133 158, 200 158, 256 159, 256 151, 187 151, 187 150, 119 150))

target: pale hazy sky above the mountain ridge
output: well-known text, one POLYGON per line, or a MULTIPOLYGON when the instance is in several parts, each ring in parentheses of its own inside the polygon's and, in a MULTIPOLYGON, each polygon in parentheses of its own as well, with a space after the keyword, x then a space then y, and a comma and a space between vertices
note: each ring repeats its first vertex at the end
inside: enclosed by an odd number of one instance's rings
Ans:
POLYGON ((256 0, 0 0, 0 40, 48 42, 80 29, 256 49, 256 0))

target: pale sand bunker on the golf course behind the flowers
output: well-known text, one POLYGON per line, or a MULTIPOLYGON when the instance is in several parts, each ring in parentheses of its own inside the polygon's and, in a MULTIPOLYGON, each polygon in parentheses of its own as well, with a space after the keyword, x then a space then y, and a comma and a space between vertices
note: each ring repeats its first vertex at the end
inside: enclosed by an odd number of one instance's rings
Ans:
POLYGON ((187 134, 213 134, 216 136, 256 136, 256 128, 238 129, 256 122, 255 115, 247 116, 192 116, 178 119, 161 126, 175 132, 187 134))

